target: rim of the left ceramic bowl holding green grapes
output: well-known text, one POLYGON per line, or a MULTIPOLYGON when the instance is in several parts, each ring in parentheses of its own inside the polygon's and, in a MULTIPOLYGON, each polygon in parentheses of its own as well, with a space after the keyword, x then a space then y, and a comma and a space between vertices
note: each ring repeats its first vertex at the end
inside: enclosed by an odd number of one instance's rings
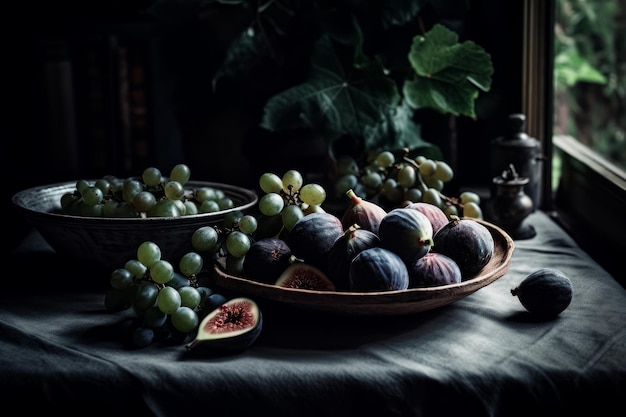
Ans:
MULTIPOLYGON (((249 189, 249 188, 240 187, 240 186, 233 185, 233 184, 221 183, 221 182, 190 180, 185 184, 185 187, 194 186, 194 185, 215 187, 217 189, 225 191, 227 194, 230 193, 231 195, 239 195, 247 201, 243 204, 235 205, 231 208, 224 209, 224 210, 214 211, 210 213, 188 214, 188 215, 177 216, 177 217, 163 217, 163 216, 160 216, 160 217, 87 217, 87 216, 76 216, 76 215, 65 214, 65 213, 57 213, 54 211, 42 211, 42 210, 37 210, 26 205, 27 195, 31 195, 37 192, 42 192, 42 191, 55 189, 55 188, 69 189, 70 187, 75 187, 76 181, 77 180, 61 181, 61 182, 56 182, 52 184, 37 185, 37 186, 30 187, 30 188, 25 188, 13 194, 13 196, 11 197, 11 203, 18 210, 22 211, 27 217, 58 219, 58 220, 64 220, 64 221, 69 221, 69 222, 89 222, 90 224, 92 223, 138 224, 138 223, 154 223, 154 222, 163 222, 163 221, 167 221, 167 222, 190 221, 192 222, 192 221, 197 221, 197 220, 210 220, 212 218, 222 217, 228 213, 232 213, 236 211, 246 211, 248 209, 253 208, 259 201, 259 197, 256 191, 249 189)), ((93 183, 96 180, 88 179, 88 181, 93 183)))

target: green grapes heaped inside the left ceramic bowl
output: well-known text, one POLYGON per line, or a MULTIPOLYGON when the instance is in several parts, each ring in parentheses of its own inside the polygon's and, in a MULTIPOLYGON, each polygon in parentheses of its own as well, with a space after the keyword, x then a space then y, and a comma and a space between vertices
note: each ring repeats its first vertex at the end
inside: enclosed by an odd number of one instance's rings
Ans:
POLYGON ((175 165, 169 176, 156 167, 146 168, 141 177, 112 175, 76 182, 76 189, 61 196, 65 214, 88 217, 178 217, 212 213, 232 208, 234 202, 213 187, 188 187, 191 170, 175 165))

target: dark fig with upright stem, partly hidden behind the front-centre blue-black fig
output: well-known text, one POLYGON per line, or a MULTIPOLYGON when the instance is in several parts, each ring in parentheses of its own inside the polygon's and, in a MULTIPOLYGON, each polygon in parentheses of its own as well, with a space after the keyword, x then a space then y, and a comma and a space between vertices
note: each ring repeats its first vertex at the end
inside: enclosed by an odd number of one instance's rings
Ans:
POLYGON ((335 241, 328 252, 328 277, 337 290, 347 290, 348 274, 352 259, 365 249, 380 246, 376 233, 361 229, 359 225, 350 226, 343 236, 335 241))

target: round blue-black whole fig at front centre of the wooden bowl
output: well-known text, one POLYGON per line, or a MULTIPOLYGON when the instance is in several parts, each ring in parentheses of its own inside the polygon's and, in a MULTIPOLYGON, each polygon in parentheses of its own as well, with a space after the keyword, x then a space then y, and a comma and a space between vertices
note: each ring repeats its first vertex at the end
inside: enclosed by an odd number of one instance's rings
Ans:
POLYGON ((355 292, 406 290, 409 271, 397 254, 376 247, 365 249, 354 257, 348 280, 350 291, 355 292))

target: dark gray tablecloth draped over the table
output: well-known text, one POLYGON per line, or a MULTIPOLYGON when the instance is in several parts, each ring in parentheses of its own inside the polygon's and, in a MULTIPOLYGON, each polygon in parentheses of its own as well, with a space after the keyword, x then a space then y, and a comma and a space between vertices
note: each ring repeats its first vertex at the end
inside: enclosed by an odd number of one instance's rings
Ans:
POLYGON ((400 317, 258 300, 261 336, 233 354, 125 348, 131 313, 104 309, 104 272, 59 259, 34 234, 3 274, 0 404, 55 415, 621 415, 626 290, 548 216, 527 221, 537 236, 515 241, 509 272, 465 299, 400 317), (541 267, 574 286, 551 321, 533 320, 510 293, 541 267))

